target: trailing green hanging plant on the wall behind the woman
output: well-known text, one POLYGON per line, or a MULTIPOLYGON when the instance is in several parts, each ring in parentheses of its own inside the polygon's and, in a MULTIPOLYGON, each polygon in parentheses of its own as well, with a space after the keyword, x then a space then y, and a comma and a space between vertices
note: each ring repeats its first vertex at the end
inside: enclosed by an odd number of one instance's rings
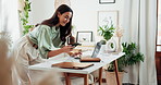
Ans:
MULTIPOLYGON (((21 0, 20 0, 21 1, 21 0)), ((29 32, 29 28, 33 28, 34 25, 28 24, 28 17, 29 17, 29 12, 30 12, 30 3, 29 0, 25 0, 23 3, 24 7, 22 8, 23 10, 18 10, 18 14, 21 17, 21 22, 23 25, 23 35, 27 34, 29 32)))

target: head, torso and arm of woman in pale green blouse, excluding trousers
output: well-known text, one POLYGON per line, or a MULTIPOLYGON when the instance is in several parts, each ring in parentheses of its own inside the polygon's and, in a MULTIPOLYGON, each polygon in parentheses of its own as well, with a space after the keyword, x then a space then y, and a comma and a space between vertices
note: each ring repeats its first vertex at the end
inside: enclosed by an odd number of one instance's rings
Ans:
POLYGON ((73 47, 64 46, 66 36, 71 34, 72 16, 72 9, 62 4, 51 19, 44 21, 29 33, 28 39, 34 47, 38 47, 40 57, 46 59, 72 50, 73 47), (58 49, 60 47, 62 48, 58 49))

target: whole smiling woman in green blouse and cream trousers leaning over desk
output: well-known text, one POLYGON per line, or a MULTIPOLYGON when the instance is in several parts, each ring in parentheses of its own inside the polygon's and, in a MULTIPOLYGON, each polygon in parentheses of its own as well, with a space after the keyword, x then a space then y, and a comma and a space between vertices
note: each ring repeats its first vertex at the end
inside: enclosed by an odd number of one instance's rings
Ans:
POLYGON ((71 35, 72 16, 72 9, 62 4, 51 19, 40 23, 17 41, 14 56, 22 84, 29 83, 28 65, 63 52, 69 53, 73 49, 72 46, 65 46, 66 37, 71 35))

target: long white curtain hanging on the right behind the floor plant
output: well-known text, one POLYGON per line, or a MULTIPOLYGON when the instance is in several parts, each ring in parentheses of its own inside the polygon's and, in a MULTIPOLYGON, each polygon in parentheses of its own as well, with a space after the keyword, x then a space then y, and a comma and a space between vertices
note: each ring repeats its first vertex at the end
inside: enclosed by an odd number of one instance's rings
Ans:
POLYGON ((124 41, 136 42, 144 53, 145 61, 128 66, 124 83, 157 85, 154 62, 157 32, 157 0, 125 0, 124 41))

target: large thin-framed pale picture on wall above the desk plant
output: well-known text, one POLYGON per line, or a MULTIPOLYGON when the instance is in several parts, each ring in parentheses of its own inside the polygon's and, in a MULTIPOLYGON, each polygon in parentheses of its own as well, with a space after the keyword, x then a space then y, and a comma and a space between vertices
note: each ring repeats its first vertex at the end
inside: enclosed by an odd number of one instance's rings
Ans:
POLYGON ((98 11, 98 28, 99 26, 113 25, 114 27, 119 26, 119 11, 98 11))

